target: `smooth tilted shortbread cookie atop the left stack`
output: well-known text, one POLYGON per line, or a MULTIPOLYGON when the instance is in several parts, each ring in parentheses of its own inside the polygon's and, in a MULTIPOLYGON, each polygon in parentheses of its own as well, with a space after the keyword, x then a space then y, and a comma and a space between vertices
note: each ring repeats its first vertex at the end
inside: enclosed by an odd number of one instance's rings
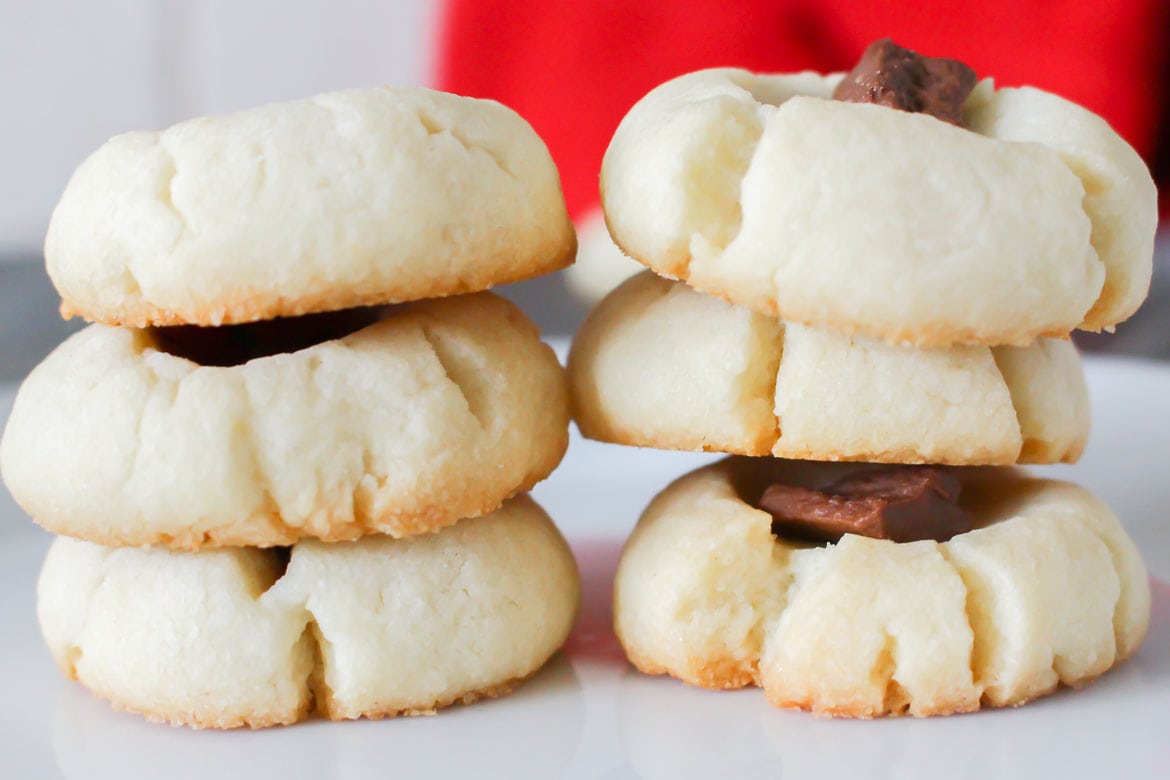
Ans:
POLYGON ((117 136, 74 173, 44 251, 64 315, 144 326, 473 292, 574 246, 519 116, 380 88, 117 136))

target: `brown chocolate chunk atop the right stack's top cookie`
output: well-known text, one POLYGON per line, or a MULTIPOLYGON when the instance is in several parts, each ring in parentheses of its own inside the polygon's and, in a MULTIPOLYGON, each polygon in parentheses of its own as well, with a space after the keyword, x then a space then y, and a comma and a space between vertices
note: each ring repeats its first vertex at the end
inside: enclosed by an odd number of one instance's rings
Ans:
POLYGON ((977 81, 958 60, 924 57, 887 37, 869 44, 833 90, 833 99, 929 113, 963 126, 963 104, 977 81))

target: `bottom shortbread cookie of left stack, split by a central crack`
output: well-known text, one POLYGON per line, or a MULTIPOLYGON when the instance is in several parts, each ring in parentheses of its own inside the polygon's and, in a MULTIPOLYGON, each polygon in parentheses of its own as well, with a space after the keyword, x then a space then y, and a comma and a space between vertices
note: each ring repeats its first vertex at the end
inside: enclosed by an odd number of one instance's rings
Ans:
POLYGON ((435 534, 305 541, 291 557, 61 538, 37 594, 68 677, 152 720, 229 729, 504 693, 565 641, 579 582, 524 496, 435 534))

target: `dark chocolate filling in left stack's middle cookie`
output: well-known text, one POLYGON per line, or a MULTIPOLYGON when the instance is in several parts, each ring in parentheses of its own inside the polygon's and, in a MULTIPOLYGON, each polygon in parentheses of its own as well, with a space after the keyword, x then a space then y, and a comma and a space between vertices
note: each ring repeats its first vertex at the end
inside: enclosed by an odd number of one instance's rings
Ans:
POLYGON ((349 336, 383 319, 387 312, 387 306, 366 306, 243 325, 152 327, 149 332, 154 346, 167 354, 201 366, 239 366, 349 336))

